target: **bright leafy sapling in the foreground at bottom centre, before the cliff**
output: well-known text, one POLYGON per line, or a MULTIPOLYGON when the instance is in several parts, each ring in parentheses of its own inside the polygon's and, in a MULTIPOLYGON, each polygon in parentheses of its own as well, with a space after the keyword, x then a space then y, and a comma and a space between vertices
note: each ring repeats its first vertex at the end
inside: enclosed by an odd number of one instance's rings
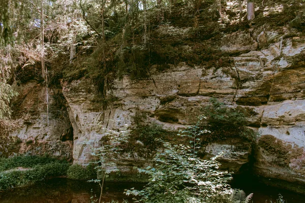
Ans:
MULTIPOLYGON (((153 161, 154 166, 140 169, 150 176, 141 191, 127 190, 127 195, 140 196, 135 202, 217 202, 219 196, 230 194, 227 172, 218 171, 220 163, 213 157, 193 157, 193 148, 164 143, 153 161)), ((225 198, 228 202, 228 196, 225 198)))

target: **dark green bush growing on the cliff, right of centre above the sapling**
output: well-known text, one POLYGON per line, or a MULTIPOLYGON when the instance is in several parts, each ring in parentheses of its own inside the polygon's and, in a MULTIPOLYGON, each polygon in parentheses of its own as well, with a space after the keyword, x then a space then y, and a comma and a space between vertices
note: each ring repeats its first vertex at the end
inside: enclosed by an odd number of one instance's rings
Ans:
POLYGON ((210 131, 204 141, 212 142, 227 138, 242 138, 254 141, 257 134, 245 125, 248 124, 245 112, 228 108, 216 98, 210 99, 210 105, 203 109, 207 122, 201 122, 199 126, 210 131))

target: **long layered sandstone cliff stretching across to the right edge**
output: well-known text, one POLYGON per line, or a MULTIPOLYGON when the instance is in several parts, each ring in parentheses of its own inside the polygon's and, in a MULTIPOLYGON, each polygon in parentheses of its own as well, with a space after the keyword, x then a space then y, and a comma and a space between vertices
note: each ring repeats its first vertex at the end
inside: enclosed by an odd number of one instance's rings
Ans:
MULTIPOLYGON (((176 130, 194 123, 200 109, 216 97, 228 107, 252 112, 248 118, 250 127, 261 136, 254 147, 257 174, 305 183, 305 37, 290 36, 298 36, 297 31, 287 27, 273 30, 267 25, 225 35, 211 46, 230 55, 230 64, 190 67, 180 63, 163 72, 152 70, 147 79, 124 76, 113 82, 107 98, 101 98, 85 78, 62 82, 73 127, 74 163, 87 164, 91 147, 99 146, 105 129, 132 126, 139 112, 147 115, 148 123, 155 121, 168 130, 176 130)), ((67 127, 55 129, 62 122, 51 120, 48 134, 45 109, 39 110, 35 119, 27 117, 35 100, 27 101, 31 95, 26 91, 33 92, 37 87, 37 95, 31 97, 43 100, 45 90, 39 85, 28 82, 22 87, 27 96, 20 105, 24 113, 19 118, 26 126, 16 135, 23 140, 67 145, 69 151, 70 141, 60 141, 68 133, 67 127)), ((60 90, 52 91, 56 94, 60 90)), ((251 144, 218 142, 206 147, 207 156, 221 151, 225 152, 224 167, 238 172, 249 161, 251 144)), ((126 160, 137 162, 130 157, 126 160)))

